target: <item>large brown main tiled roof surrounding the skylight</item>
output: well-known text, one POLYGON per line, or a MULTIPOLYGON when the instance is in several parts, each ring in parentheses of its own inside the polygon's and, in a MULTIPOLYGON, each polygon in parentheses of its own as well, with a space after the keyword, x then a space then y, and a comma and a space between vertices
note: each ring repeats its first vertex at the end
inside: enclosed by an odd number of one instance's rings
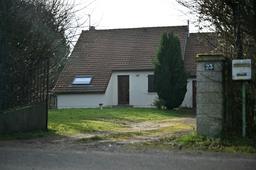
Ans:
POLYGON ((153 69, 149 56, 169 30, 180 37, 183 51, 187 26, 83 31, 53 91, 105 92, 113 69, 153 69), (93 86, 69 87, 75 76, 93 76, 93 86))

